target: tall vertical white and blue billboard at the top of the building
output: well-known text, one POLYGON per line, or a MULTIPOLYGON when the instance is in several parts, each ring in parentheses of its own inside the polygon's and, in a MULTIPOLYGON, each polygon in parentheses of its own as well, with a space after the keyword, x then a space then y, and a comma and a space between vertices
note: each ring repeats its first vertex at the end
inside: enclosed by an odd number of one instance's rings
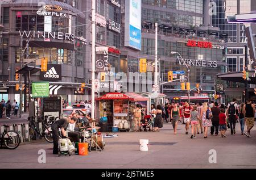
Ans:
POLYGON ((125 46, 141 50, 141 0, 125 1, 125 46))

